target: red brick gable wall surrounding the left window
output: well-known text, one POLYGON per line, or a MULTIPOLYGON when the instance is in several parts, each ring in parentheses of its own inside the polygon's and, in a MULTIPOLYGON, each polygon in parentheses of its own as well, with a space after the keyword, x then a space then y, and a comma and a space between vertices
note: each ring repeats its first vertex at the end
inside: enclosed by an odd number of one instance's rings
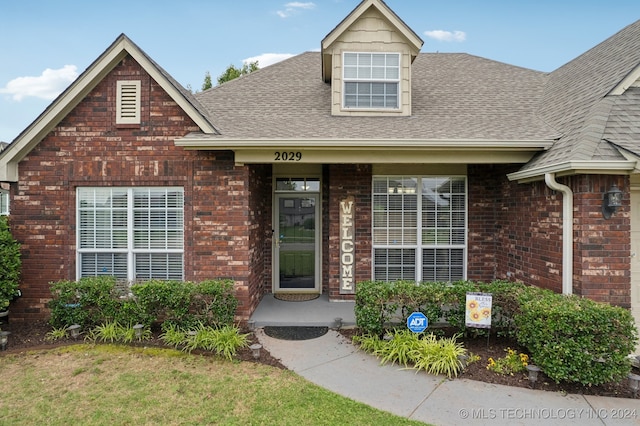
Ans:
POLYGON ((177 137, 195 123, 131 58, 125 58, 21 161, 12 185, 12 225, 22 244, 23 297, 11 319, 46 318, 49 283, 76 278, 78 186, 181 186, 185 191, 185 279, 231 278, 240 314, 262 285, 258 234, 264 171, 235 166, 233 153, 185 151, 177 137), (116 81, 141 80, 142 123, 115 125, 116 81), (249 201, 251 200, 251 201, 249 201), (255 261, 255 264, 252 264, 255 261))

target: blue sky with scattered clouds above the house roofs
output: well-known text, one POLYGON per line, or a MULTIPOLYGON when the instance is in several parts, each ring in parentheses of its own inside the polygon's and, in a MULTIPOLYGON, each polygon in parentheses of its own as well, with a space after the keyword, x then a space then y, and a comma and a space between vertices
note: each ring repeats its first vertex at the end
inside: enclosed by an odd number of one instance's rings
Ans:
MULTIPOLYGON (((0 141, 12 141, 120 35, 185 87, 319 50, 360 0, 0 0, 0 141)), ((553 71, 640 18, 637 0, 386 0, 423 52, 553 71)), ((320 75, 320 70, 318 70, 320 75)))

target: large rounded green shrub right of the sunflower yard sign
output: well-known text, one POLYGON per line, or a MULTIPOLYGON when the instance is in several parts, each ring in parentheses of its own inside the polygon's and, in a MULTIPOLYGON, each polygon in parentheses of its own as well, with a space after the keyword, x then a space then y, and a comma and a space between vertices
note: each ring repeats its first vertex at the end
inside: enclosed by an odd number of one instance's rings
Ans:
POLYGON ((637 330, 628 310, 578 296, 528 296, 515 316, 517 338, 547 376, 600 385, 629 373, 637 330))

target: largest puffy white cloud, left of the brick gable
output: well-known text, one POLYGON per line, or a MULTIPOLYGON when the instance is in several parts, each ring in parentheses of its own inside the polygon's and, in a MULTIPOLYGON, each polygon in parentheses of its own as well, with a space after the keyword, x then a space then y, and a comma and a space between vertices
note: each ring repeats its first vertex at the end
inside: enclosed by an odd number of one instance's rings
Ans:
POLYGON ((78 77, 77 70, 75 65, 65 65, 57 70, 47 68, 38 77, 18 77, 11 80, 0 88, 0 93, 11 95, 15 101, 26 97, 53 100, 78 77))

